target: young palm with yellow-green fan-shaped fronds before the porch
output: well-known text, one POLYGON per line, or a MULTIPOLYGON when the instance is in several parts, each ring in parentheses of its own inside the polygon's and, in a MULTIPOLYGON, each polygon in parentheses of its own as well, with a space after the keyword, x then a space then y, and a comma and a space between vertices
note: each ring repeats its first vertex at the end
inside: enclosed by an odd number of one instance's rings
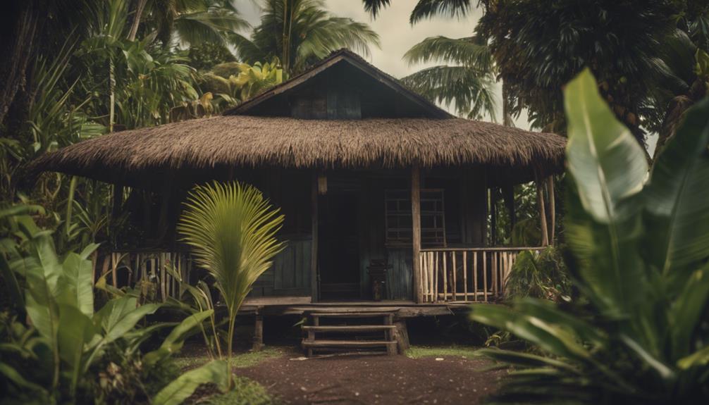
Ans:
POLYGON ((257 188, 238 182, 196 186, 187 197, 177 229, 199 265, 213 275, 227 308, 229 370, 236 314, 253 283, 284 249, 276 239, 283 218, 257 188))

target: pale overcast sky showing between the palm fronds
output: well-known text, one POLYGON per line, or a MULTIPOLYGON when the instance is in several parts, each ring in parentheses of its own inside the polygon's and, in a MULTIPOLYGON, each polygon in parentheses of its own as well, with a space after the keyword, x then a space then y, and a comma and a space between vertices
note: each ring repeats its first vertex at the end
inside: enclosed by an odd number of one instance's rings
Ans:
MULTIPOLYGON (((450 38, 470 36, 481 16, 480 11, 474 10, 464 18, 432 18, 412 26, 408 23, 408 17, 417 2, 418 0, 393 0, 391 5, 384 8, 374 20, 369 16, 369 13, 364 11, 361 0, 325 0, 325 5, 328 11, 335 16, 349 17, 354 21, 368 23, 379 34, 381 47, 370 47, 371 55, 362 55, 362 57, 391 76, 401 78, 424 67, 435 65, 435 63, 430 63, 409 66, 404 62, 403 54, 413 45, 436 35, 450 38)), ((252 25, 258 25, 259 1, 238 0, 235 4, 247 21, 252 25)), ((501 88, 497 86, 496 90, 498 110, 501 110, 501 88)), ((447 108, 447 110, 454 113, 452 108, 447 108)), ((523 114, 518 120, 515 120, 515 125, 528 129, 526 115, 523 114)))

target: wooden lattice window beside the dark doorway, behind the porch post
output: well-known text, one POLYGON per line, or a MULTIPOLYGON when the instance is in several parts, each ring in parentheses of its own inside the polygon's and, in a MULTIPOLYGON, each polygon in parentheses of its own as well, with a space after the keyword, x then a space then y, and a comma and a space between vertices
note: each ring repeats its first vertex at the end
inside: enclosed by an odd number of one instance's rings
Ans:
MULTIPOLYGON (((446 245, 443 190, 421 190, 421 246, 446 245)), ((386 246, 411 246, 411 190, 384 193, 386 246)))

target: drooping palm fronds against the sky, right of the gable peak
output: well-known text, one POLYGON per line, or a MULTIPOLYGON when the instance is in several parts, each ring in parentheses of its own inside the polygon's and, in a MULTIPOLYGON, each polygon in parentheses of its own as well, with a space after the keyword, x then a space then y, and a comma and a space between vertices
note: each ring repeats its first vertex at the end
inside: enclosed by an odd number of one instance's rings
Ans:
MULTIPOLYGON (((445 62, 403 79, 404 84, 437 103, 455 104, 459 115, 495 120, 495 64, 489 48, 479 38, 430 37, 404 55, 409 64, 445 62)), ((504 108, 503 108, 504 110, 504 108)), ((505 116, 506 124, 511 120, 505 116)))

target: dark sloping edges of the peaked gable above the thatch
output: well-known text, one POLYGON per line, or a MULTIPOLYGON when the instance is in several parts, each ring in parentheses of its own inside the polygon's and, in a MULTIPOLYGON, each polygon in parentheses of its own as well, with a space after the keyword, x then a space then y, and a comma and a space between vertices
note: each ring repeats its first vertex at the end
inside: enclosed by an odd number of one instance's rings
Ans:
POLYGON ((434 103, 431 103, 423 96, 420 96, 420 94, 415 93, 415 91, 408 89, 408 87, 401 84, 401 82, 395 79, 393 76, 382 72, 380 69, 377 69, 376 67, 374 67, 374 65, 370 64, 359 55, 344 48, 332 52, 328 57, 325 57, 325 59, 322 59, 320 60, 320 62, 313 64, 313 66, 308 68, 305 72, 298 74, 297 76, 292 77, 288 81, 284 81, 283 83, 274 86, 271 89, 264 91, 263 93, 260 93, 258 96, 250 98, 250 100, 245 101, 244 103, 241 103, 240 105, 237 105, 234 108, 226 110, 223 114, 250 115, 250 110, 252 110, 252 108, 255 108, 257 105, 260 105, 261 103, 264 103, 264 101, 268 101, 281 94, 287 93, 298 86, 306 84, 306 82, 322 74, 323 72, 335 66, 335 64, 339 64, 340 62, 350 64, 352 67, 359 69, 359 71, 363 72, 364 74, 367 74, 368 76, 372 77, 372 79, 378 81, 381 86, 386 86, 401 95, 402 97, 406 98, 408 101, 415 103, 415 105, 418 105, 420 108, 425 110, 431 118, 454 118, 454 116, 448 113, 447 111, 438 107, 434 103))

